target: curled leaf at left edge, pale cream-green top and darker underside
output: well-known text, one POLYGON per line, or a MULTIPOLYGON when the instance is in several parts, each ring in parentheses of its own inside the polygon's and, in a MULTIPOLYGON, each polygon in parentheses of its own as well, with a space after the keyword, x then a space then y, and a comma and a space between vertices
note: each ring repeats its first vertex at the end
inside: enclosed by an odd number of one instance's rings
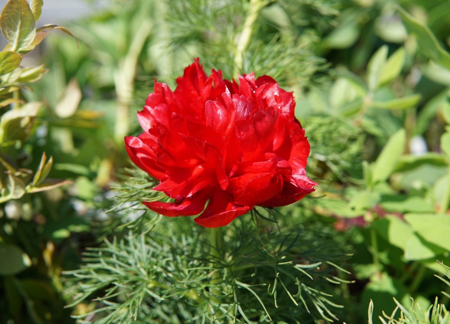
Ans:
POLYGON ((40 102, 30 102, 19 109, 8 110, 0 117, 0 145, 7 141, 23 141, 31 130, 40 102))

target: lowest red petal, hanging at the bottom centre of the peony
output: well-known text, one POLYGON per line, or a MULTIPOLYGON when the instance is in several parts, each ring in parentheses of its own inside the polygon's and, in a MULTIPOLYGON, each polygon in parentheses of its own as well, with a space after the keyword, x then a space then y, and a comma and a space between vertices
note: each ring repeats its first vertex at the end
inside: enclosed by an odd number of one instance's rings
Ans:
POLYGON ((204 227, 225 226, 236 217, 252 209, 253 206, 234 205, 231 195, 222 190, 216 190, 205 211, 194 220, 198 225, 204 227))

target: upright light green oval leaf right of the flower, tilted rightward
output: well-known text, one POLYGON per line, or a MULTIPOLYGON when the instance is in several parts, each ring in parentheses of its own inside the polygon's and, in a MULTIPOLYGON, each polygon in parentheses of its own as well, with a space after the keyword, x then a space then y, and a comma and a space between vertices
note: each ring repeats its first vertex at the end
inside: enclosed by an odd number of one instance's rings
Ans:
POLYGON ((405 149, 406 132, 401 128, 387 141, 374 164, 373 182, 386 181, 394 171, 405 149))

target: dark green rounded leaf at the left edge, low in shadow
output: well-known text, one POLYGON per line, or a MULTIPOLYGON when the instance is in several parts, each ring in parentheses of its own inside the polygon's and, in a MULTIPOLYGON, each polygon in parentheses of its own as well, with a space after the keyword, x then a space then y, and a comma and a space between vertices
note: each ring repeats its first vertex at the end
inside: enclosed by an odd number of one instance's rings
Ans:
POLYGON ((13 276, 31 265, 30 257, 16 245, 0 245, 0 274, 13 276))

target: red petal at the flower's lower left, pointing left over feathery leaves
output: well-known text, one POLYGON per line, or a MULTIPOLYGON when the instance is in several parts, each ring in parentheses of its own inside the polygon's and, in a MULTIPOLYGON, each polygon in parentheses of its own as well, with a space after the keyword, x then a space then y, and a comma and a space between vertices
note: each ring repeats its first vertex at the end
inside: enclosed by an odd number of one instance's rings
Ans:
POLYGON ((200 214, 205 208, 207 196, 199 193, 195 196, 185 198, 179 203, 175 202, 161 202, 161 201, 143 201, 153 211, 164 216, 192 216, 200 214))

